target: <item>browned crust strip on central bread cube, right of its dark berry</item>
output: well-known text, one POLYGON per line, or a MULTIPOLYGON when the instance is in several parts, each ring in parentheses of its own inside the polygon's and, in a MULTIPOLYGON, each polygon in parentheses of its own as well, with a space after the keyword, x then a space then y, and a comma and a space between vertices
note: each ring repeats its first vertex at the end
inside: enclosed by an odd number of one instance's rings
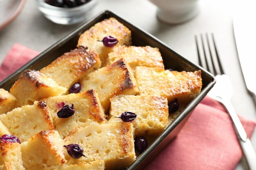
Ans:
POLYGON ((89 108, 89 114, 94 117, 96 121, 99 123, 103 122, 105 118, 101 114, 101 109, 99 107, 99 103, 95 94, 95 91, 93 89, 88 90, 85 92, 90 97, 90 108, 89 108))

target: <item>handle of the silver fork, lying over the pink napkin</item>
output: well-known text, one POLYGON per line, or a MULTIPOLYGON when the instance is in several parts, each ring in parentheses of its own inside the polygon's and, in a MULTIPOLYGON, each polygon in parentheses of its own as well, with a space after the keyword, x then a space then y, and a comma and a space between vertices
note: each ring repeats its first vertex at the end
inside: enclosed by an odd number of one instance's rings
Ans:
POLYGON ((252 146, 250 139, 247 137, 245 129, 243 128, 235 110, 230 101, 220 101, 227 109, 238 136, 238 141, 245 155, 247 165, 250 170, 256 170, 256 153, 252 146))

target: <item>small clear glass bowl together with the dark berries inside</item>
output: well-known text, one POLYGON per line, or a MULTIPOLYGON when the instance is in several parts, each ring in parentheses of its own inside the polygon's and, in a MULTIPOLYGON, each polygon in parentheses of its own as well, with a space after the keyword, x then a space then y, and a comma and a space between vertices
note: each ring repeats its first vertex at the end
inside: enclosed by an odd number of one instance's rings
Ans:
POLYGON ((90 18, 97 0, 36 0, 38 9, 57 24, 70 25, 90 18))

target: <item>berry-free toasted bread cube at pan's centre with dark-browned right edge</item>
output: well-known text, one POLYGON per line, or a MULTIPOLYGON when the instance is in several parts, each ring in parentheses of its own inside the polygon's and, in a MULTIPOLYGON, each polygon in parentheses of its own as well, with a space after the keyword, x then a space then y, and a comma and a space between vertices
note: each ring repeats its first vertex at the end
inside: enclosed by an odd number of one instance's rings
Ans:
POLYGON ((138 93, 137 83, 131 68, 122 58, 110 66, 102 67, 88 74, 81 80, 81 85, 81 91, 94 89, 97 92, 105 113, 109 110, 109 99, 113 96, 136 95, 138 93))

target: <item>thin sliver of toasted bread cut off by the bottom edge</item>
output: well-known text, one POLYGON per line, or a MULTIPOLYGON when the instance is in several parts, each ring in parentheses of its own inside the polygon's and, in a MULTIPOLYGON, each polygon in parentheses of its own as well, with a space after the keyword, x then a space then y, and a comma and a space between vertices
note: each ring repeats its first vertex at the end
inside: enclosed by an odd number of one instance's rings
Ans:
POLYGON ((79 162, 77 164, 66 165, 60 167, 59 170, 104 170, 105 163, 103 160, 97 160, 92 162, 79 162))

